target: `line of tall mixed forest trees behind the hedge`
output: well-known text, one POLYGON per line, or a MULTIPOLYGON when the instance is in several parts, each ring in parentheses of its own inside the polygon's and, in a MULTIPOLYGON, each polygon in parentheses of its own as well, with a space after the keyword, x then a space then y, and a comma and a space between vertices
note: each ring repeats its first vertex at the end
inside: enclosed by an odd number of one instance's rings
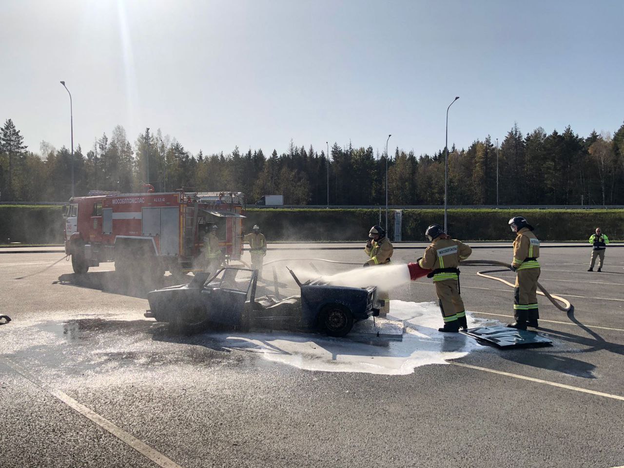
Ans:
MULTIPOLYGON (((200 192, 243 192, 248 203, 262 195, 284 195, 290 205, 385 205, 386 167, 390 205, 444 203, 445 149, 416 155, 372 146, 334 143, 329 160, 292 140, 282 154, 273 149, 228 154, 191 154, 160 130, 146 129, 131 144, 124 127, 74 149, 75 194, 89 190, 144 192, 187 188, 200 192)), ((71 196, 71 150, 41 142, 24 145, 11 119, 0 129, 0 200, 59 201, 71 196)), ((467 149, 449 149, 451 205, 624 204, 624 124, 612 135, 580 137, 568 126, 547 134, 542 127, 523 134, 517 124, 497 146, 488 135, 467 149)))

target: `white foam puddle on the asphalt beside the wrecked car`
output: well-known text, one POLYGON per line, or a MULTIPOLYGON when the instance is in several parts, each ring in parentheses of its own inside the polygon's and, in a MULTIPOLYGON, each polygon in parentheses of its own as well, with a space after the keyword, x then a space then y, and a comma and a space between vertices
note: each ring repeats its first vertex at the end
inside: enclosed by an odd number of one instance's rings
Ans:
MULTIPOLYGON (((406 326, 402 341, 377 339, 362 343, 322 335, 237 334, 224 335, 224 348, 255 351, 265 359, 309 371, 411 374, 419 366, 447 364, 479 347, 474 338, 461 333, 441 333, 440 308, 436 303, 392 300, 389 319, 406 326)), ((484 323, 467 314, 469 326, 484 323)))

